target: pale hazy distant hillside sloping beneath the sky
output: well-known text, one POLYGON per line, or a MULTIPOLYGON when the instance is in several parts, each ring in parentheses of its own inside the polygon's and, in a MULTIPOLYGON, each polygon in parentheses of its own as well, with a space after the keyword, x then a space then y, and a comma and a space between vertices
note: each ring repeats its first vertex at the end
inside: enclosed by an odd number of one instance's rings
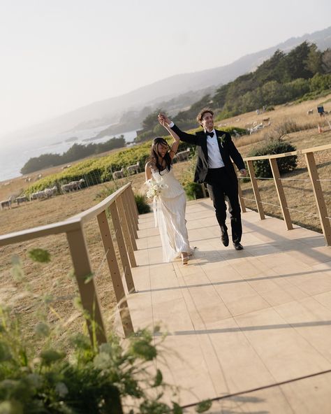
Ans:
MULTIPOLYGON (((124 112, 129 110, 139 111, 145 106, 155 107, 162 101, 170 101, 174 97, 186 94, 189 91, 194 92, 228 83, 238 76, 256 69, 265 59, 272 56, 277 49, 288 52, 303 41, 315 43, 320 50, 331 48, 331 27, 316 31, 313 34, 290 38, 272 48, 241 57, 226 66, 171 76, 122 96, 91 103, 43 124, 38 124, 36 127, 26 129, 22 131, 22 134, 24 133, 26 138, 36 138, 37 136, 45 138, 50 134, 59 134, 66 130, 114 124, 119 122, 124 112)), ((125 131, 117 131, 117 133, 120 132, 125 131)))

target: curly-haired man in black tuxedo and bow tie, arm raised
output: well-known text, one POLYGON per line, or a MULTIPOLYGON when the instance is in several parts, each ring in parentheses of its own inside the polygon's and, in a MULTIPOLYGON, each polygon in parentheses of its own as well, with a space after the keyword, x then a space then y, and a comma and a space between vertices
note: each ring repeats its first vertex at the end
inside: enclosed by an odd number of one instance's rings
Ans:
POLYGON ((181 131, 163 113, 159 114, 159 121, 163 121, 179 136, 182 141, 198 147, 198 159, 194 181, 207 183, 209 196, 214 204, 216 219, 221 227, 221 241, 228 246, 228 227, 226 227, 226 203, 228 201, 231 218, 232 240, 235 250, 242 250, 242 220, 238 200, 238 180, 233 168, 233 162, 246 176, 246 169, 242 156, 235 148, 228 132, 214 129, 214 112, 210 108, 203 108, 196 117, 204 131, 196 134, 187 134, 181 131))

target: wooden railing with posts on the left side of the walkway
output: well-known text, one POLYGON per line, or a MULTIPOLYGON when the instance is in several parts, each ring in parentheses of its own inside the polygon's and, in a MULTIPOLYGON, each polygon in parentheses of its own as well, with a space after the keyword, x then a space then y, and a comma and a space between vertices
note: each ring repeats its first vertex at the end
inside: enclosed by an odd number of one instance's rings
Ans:
POLYGON ((133 332, 133 324, 126 301, 119 262, 112 242, 107 211, 109 211, 112 219, 127 291, 132 293, 135 292, 135 285, 131 268, 137 266, 134 250, 137 250, 135 239, 138 230, 138 209, 130 183, 124 185, 96 206, 74 215, 68 220, 0 236, 0 246, 3 246, 52 234, 66 234, 89 336, 91 341, 94 341, 95 335, 98 343, 106 341, 106 331, 94 278, 89 278, 87 281, 87 277, 92 274, 92 269, 83 229, 83 224, 94 219, 94 217, 98 221, 124 334, 128 336, 133 332))

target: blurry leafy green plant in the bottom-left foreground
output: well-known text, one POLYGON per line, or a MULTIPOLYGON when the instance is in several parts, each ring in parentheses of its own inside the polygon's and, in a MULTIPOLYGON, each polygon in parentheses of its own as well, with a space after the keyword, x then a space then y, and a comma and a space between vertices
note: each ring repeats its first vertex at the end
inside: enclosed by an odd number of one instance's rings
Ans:
MULTIPOLYGON (((38 262, 50 259, 41 249, 29 256, 38 262)), ((15 259, 15 272, 27 283, 19 269, 15 259)), ((91 344, 87 334, 77 333, 66 349, 55 345, 59 331, 42 320, 27 336, 20 317, 10 308, 0 308, 0 414, 183 412, 175 401, 170 405, 161 401, 165 389, 170 388, 173 397, 177 390, 164 383, 159 369, 151 373, 164 336, 156 345, 147 329, 136 331, 127 341, 112 332, 107 343, 98 345, 91 344)), ((210 406, 203 401, 196 411, 210 406)))

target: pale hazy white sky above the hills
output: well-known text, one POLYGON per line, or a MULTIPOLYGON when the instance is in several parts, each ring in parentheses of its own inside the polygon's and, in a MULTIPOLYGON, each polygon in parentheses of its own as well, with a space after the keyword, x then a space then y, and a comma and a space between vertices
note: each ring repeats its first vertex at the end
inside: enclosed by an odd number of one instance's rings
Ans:
POLYGON ((330 0, 0 0, 0 136, 331 24, 330 0))

